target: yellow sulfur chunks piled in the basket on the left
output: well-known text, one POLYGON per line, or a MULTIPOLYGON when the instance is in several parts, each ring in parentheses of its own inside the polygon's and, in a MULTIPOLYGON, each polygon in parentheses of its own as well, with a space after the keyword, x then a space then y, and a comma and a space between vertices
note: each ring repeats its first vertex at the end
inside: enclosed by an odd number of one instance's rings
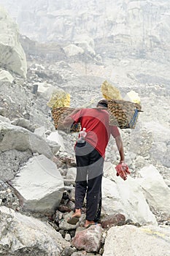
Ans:
POLYGON ((50 108, 69 108, 70 94, 60 90, 54 91, 47 105, 50 108))

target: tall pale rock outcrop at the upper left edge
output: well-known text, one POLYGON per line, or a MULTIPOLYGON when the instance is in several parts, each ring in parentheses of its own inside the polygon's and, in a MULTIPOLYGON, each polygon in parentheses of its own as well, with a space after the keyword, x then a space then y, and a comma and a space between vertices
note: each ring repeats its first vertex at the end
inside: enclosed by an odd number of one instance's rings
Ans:
POLYGON ((18 26, 1 6, 0 19, 0 66, 26 78, 26 54, 19 42, 18 26))

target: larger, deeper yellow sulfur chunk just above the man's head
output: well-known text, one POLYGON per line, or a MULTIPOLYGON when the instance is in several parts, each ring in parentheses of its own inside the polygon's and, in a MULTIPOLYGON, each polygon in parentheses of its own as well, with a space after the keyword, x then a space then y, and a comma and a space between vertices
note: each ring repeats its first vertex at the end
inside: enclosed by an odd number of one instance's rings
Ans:
POLYGON ((120 91, 115 86, 112 86, 112 84, 108 83, 107 80, 105 80, 104 83, 101 84, 101 93, 103 94, 103 97, 107 100, 122 99, 120 91))

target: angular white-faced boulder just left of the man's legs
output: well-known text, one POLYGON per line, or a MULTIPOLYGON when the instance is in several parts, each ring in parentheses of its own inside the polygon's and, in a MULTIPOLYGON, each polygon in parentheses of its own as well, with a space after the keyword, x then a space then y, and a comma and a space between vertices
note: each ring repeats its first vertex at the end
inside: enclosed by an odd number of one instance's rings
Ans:
POLYGON ((63 195, 61 173, 54 162, 43 155, 32 157, 12 180, 23 200, 23 207, 35 212, 53 214, 63 195))

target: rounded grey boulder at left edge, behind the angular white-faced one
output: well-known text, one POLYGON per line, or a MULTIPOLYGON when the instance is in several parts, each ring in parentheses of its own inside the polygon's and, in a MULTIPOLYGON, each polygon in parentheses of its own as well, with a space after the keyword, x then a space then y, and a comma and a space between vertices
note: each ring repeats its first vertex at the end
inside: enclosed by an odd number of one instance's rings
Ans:
POLYGON ((45 139, 28 129, 4 121, 0 121, 0 153, 2 181, 14 178, 20 165, 33 154, 44 154, 49 159, 53 158, 53 153, 45 139))

